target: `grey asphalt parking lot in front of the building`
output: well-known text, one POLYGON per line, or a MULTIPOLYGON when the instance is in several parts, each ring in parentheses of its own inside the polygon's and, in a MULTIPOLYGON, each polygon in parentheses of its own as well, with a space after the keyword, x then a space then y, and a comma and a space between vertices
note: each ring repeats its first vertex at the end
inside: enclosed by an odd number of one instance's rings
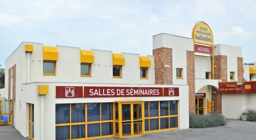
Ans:
MULTIPOLYGON (((147 133, 130 140, 253 140, 256 139, 256 122, 228 119, 225 126, 214 128, 189 128, 182 130, 147 133)), ((11 125, 0 126, 0 140, 26 140, 11 125)), ((101 140, 116 140, 106 138, 101 140)))

